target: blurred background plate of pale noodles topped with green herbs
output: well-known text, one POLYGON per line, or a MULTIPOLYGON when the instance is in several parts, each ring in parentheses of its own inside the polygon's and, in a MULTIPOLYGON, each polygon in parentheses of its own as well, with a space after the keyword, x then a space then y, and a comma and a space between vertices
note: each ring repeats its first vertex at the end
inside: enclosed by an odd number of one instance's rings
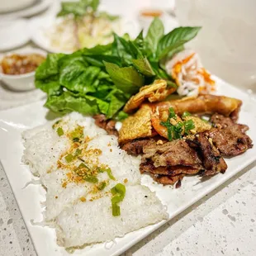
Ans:
POLYGON ((98 5, 99 1, 61 2, 56 17, 30 21, 31 39, 50 52, 72 53, 84 47, 107 45, 113 39, 113 32, 136 34, 136 22, 102 11, 98 5))

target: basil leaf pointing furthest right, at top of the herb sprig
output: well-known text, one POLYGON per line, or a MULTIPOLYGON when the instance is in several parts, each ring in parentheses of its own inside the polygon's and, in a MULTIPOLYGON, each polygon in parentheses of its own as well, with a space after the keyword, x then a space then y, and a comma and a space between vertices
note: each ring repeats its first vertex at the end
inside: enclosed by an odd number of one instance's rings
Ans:
POLYGON ((201 29, 200 26, 180 26, 170 31, 167 35, 163 36, 159 40, 159 45, 157 47, 157 59, 164 58, 165 55, 172 50, 184 45, 189 40, 192 40, 197 36, 197 32, 201 29))

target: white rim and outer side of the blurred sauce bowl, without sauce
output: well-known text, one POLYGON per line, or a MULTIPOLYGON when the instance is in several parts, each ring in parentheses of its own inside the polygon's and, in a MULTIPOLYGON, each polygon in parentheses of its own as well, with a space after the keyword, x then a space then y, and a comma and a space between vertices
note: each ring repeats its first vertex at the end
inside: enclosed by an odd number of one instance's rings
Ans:
MULTIPOLYGON (((39 54, 45 57, 47 55, 47 53, 44 50, 40 50, 36 48, 16 50, 8 53, 7 55, 13 55, 13 54, 17 54, 17 55, 39 54)), ((0 63, 4 56, 6 55, 3 55, 1 57, 0 63)), ((35 89, 35 83, 34 83, 35 73, 36 71, 30 72, 30 73, 23 73, 23 74, 5 74, 5 73, 2 73, 2 71, 0 70, 0 81, 5 83, 12 90, 29 91, 29 90, 35 89)))

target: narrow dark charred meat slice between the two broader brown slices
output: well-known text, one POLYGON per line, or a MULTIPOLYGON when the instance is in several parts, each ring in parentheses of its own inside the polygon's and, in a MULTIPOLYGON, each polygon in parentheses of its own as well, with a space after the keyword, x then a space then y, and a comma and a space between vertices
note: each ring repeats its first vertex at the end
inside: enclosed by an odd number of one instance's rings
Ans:
POLYGON ((197 149, 198 154, 201 156, 205 168, 205 171, 201 173, 202 176, 225 173, 227 169, 225 160, 220 156, 219 150, 214 145, 211 145, 205 134, 198 134, 194 140, 187 140, 187 143, 192 148, 197 149))

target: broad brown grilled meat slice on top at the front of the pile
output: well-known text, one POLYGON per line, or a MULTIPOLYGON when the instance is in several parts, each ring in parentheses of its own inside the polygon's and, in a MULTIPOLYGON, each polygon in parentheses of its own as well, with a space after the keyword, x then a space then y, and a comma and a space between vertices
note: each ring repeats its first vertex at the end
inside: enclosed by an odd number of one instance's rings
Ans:
POLYGON ((183 165, 201 168, 196 150, 189 147, 185 140, 173 140, 164 145, 145 145, 143 153, 142 159, 151 159, 155 167, 183 165))

